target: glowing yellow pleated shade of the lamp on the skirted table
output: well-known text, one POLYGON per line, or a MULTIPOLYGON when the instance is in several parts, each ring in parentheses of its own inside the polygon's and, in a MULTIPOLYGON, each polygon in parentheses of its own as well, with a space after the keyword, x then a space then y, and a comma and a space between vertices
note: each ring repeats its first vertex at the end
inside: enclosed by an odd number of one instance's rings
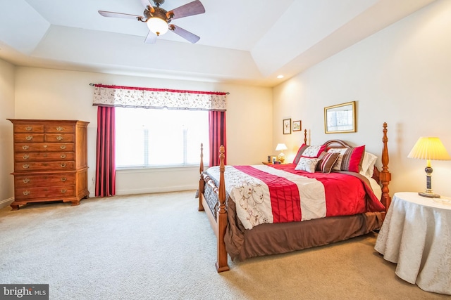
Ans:
POLYGON ((409 158, 430 160, 451 160, 440 138, 421 137, 410 151, 409 158))

